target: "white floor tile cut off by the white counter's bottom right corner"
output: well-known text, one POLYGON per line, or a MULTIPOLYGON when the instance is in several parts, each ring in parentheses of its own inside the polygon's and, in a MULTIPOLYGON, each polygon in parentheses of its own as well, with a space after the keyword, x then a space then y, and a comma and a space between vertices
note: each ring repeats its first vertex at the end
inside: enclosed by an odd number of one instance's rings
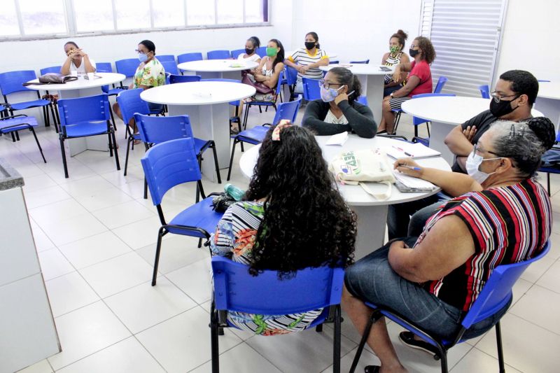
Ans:
POLYGON ((55 318, 62 352, 48 358, 59 370, 130 337, 125 325, 103 303, 96 302, 55 318))

